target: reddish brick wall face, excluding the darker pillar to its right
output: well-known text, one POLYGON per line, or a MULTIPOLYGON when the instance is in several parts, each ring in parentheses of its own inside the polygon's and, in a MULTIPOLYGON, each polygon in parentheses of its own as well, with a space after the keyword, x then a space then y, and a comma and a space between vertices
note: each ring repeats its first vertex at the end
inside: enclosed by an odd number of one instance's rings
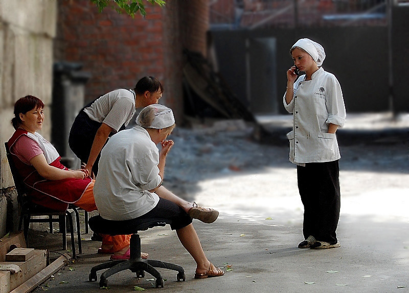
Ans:
POLYGON ((59 2, 55 59, 83 64, 92 73, 86 101, 117 88, 133 88, 143 76, 164 78, 160 7, 147 7, 145 19, 88 0, 59 2))

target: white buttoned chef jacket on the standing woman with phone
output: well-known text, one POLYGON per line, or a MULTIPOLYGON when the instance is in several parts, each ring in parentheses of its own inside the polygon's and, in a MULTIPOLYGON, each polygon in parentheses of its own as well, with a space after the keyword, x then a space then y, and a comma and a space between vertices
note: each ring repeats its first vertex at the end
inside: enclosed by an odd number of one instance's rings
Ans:
POLYGON ((293 114, 290 141, 290 161, 298 165, 330 162, 340 158, 338 143, 328 124, 344 126, 345 105, 338 80, 320 67, 310 81, 305 75, 294 82, 293 99, 284 107, 293 114))

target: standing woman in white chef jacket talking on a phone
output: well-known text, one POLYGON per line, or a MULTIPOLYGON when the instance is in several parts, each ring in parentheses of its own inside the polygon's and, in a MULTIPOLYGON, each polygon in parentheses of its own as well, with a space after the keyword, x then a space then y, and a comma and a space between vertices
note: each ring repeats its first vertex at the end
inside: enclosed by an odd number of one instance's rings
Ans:
POLYGON ((304 239, 299 248, 339 247, 340 158, 335 131, 346 113, 338 80, 321 65, 323 46, 310 39, 298 40, 290 50, 294 66, 287 70, 284 107, 293 114, 287 134, 290 161, 297 164, 298 188, 304 205, 304 239), (296 67, 297 66, 297 67, 296 67), (296 74, 296 69, 305 75, 296 74))

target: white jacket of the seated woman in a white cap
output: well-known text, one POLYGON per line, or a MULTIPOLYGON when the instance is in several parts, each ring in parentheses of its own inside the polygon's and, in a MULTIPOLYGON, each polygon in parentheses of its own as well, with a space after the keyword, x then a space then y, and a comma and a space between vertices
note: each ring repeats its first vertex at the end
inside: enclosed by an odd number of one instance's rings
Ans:
POLYGON ((159 152, 148 132, 135 126, 118 132, 101 152, 94 198, 100 215, 122 221, 139 217, 159 201, 154 189, 159 176, 159 152))

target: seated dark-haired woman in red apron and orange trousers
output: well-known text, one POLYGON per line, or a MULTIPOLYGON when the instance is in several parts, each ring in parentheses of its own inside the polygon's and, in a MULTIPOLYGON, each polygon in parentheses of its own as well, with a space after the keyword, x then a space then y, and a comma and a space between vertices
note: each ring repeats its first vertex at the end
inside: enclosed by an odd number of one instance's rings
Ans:
MULTIPOLYGON (((86 211, 97 210, 88 170, 70 170, 60 162, 53 145, 37 131, 44 119, 44 104, 28 95, 14 105, 11 124, 16 130, 8 141, 10 154, 28 189, 31 202, 53 210, 65 211, 69 204, 86 211)), ((129 248, 130 235, 103 235, 100 253, 121 256, 129 248)), ((145 258, 147 254, 143 255, 145 258)))

